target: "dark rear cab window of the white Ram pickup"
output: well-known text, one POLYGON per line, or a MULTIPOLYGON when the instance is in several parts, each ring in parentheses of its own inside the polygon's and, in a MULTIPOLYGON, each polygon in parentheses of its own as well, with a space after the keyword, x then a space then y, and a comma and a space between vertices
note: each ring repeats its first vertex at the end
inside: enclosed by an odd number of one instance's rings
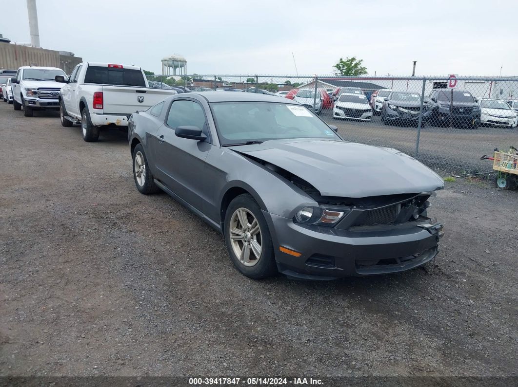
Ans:
POLYGON ((84 83, 146 87, 146 81, 140 70, 101 66, 90 66, 84 76, 84 83))

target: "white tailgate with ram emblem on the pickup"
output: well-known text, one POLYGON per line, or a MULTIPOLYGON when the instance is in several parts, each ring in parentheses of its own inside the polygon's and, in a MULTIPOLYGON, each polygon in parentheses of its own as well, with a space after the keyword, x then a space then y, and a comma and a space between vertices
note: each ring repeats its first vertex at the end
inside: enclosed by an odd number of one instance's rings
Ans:
POLYGON ((103 86, 103 113, 127 115, 148 109, 170 95, 174 90, 134 86, 103 86))

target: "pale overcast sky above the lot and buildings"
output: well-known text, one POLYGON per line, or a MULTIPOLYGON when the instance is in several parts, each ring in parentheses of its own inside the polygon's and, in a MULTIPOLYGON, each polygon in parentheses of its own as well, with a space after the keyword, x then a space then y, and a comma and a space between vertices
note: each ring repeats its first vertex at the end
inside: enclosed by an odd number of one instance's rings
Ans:
MULTIPOLYGON (((155 73, 178 53, 198 74, 518 75, 518 2, 37 0, 41 47, 155 73)), ((0 34, 30 42, 23 0, 2 0, 0 34), (4 8, 4 7, 2 7, 4 8), (18 17, 13 17, 17 15, 18 17)))

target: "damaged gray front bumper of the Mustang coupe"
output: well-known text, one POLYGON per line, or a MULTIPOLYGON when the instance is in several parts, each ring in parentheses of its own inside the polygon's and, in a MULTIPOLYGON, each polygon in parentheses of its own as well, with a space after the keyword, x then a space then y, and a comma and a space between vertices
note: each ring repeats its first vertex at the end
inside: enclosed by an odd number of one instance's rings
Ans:
POLYGON ((296 278, 333 280, 347 276, 395 273, 434 259, 442 225, 415 223, 360 230, 304 226, 263 211, 274 242, 279 271, 296 278), (301 253, 295 257, 279 246, 301 253))

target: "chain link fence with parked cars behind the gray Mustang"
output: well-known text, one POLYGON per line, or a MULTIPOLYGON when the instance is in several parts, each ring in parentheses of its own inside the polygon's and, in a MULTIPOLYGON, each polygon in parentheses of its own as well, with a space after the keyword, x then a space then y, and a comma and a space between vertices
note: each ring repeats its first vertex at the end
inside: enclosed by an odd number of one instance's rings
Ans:
POLYGON ((452 174, 485 173, 518 147, 518 77, 152 75, 178 92, 257 92, 304 104, 353 142, 396 148, 452 174))

